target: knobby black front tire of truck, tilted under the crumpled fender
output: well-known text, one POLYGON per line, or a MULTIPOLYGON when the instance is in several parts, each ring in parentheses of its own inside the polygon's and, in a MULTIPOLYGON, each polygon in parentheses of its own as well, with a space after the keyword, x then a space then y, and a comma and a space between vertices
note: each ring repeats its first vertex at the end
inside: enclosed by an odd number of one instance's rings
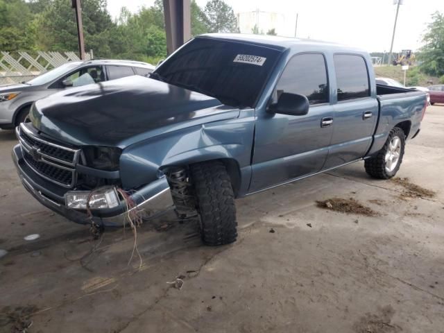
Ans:
POLYGON ((200 217, 200 236, 209 246, 230 244, 237 238, 234 194, 221 161, 202 162, 190 167, 200 217))

